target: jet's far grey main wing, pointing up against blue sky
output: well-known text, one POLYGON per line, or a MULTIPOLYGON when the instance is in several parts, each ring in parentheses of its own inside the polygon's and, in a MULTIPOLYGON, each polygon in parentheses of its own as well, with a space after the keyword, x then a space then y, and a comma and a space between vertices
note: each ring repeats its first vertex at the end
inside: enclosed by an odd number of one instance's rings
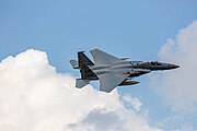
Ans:
POLYGON ((107 52, 104 52, 97 48, 90 50, 95 64, 112 64, 112 63, 118 63, 124 62, 124 60, 114 57, 107 52))

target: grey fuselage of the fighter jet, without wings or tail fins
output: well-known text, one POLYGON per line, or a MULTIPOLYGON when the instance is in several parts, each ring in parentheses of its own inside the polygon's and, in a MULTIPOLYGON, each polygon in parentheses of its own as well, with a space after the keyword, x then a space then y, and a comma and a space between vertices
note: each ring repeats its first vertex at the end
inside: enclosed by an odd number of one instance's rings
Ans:
MULTIPOLYGON (((135 78, 140 76, 146 73, 150 73, 151 71, 158 71, 158 70, 171 70, 176 69, 178 66, 171 64, 171 63, 162 63, 158 61, 124 61, 119 63, 113 63, 113 64, 100 64, 100 66, 92 66, 90 69, 95 74, 105 74, 111 73, 114 71, 127 73, 130 74, 128 78, 135 78)), ((99 80, 99 78, 90 73, 90 75, 86 78, 88 80, 99 80)))

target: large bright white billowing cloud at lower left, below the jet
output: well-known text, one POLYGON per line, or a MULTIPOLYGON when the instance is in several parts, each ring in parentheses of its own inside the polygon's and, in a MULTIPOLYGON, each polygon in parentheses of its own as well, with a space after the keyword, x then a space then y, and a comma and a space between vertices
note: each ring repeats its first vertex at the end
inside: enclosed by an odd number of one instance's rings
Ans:
MULTIPOLYGON (((140 109, 140 102, 135 100, 140 109)), ((27 50, 0 63, 0 131, 153 131, 143 115, 126 109, 111 94, 60 74, 43 51, 27 50), (105 129, 103 129, 105 128, 105 129)))

